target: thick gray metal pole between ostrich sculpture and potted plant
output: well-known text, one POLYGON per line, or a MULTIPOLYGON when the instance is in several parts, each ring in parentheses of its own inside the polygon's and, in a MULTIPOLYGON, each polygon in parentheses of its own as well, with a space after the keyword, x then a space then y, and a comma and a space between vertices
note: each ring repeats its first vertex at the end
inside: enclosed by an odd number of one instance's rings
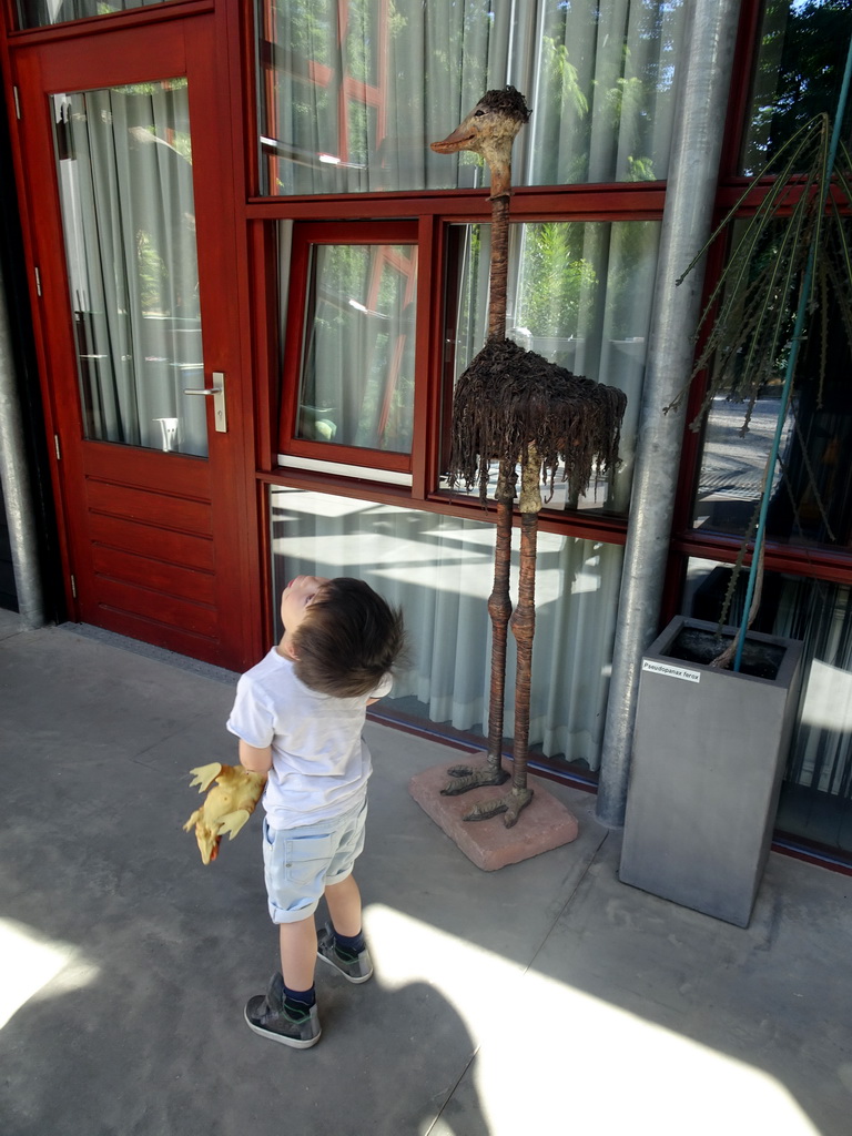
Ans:
POLYGON ((692 370, 703 267, 675 281, 710 236, 740 0, 695 0, 675 124, 654 287, 630 518, 601 753, 598 819, 624 824, 642 653, 657 636, 685 402, 662 414, 692 370))

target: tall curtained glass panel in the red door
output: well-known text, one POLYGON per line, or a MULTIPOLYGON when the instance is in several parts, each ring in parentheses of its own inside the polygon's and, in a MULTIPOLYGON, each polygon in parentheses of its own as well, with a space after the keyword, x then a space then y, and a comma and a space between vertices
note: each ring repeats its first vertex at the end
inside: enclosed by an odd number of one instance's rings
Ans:
POLYGON ((186 80, 52 106, 85 436, 206 456, 186 80))

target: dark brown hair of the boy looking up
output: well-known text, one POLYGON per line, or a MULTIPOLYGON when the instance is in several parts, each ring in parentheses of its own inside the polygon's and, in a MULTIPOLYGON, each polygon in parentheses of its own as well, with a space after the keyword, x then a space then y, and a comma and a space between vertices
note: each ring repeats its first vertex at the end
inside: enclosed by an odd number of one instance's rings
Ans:
POLYGON ((406 645, 402 613, 369 584, 349 576, 328 580, 293 633, 296 676, 323 694, 369 694, 406 645))

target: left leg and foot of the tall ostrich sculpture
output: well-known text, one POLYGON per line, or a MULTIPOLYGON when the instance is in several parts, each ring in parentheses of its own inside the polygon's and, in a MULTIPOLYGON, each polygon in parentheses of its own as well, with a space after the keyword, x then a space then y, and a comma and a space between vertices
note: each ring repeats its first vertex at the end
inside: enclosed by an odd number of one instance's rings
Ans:
POLYGON ((488 598, 491 616, 491 691, 488 695, 488 757, 481 769, 453 766, 448 772, 456 778, 441 790, 444 796, 458 796, 479 785, 502 785, 509 774, 502 767, 503 703, 506 701, 506 642, 512 605, 509 598, 511 566, 512 509, 516 475, 508 463, 500 466, 495 500, 496 543, 494 549, 494 586, 488 598))

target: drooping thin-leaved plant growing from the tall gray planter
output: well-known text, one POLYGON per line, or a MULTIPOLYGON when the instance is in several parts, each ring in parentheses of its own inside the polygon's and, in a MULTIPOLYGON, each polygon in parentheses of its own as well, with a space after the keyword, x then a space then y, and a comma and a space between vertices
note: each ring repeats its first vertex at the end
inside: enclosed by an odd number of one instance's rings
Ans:
MULTIPOLYGON (((850 53, 852 59, 852 49, 850 53)), ((849 64, 847 64, 849 69, 849 64)), ((838 108, 842 117, 842 108, 838 108)), ((693 373, 677 399, 663 412, 678 407, 692 381, 707 373, 708 385, 701 408, 691 423, 700 431, 715 399, 744 403, 741 435, 749 432, 757 399, 767 385, 780 387, 776 438, 767 461, 755 504, 727 588, 719 628, 727 621, 737 578, 751 553, 751 575, 743 624, 735 642, 715 660, 738 669, 745 633, 757 615, 761 588, 766 516, 776 467, 780 487, 787 494, 794 523, 801 528, 799 507, 778 442, 787 416, 792 434, 800 443, 801 469, 808 491, 829 540, 834 534, 813 476, 794 395, 803 384, 816 383, 815 402, 821 407, 828 364, 829 304, 844 329, 845 348, 852 362, 852 160, 838 133, 829 128, 826 114, 809 119, 780 148, 772 161, 752 181, 725 217, 708 244, 677 281, 695 267, 717 237, 727 232, 750 197, 774 181, 754 214, 743 222, 742 235, 733 248, 725 270, 702 314, 696 342, 702 341, 693 373), (799 366, 800 346, 807 343, 810 375, 799 366), (783 383, 779 376, 783 374, 783 383)))

